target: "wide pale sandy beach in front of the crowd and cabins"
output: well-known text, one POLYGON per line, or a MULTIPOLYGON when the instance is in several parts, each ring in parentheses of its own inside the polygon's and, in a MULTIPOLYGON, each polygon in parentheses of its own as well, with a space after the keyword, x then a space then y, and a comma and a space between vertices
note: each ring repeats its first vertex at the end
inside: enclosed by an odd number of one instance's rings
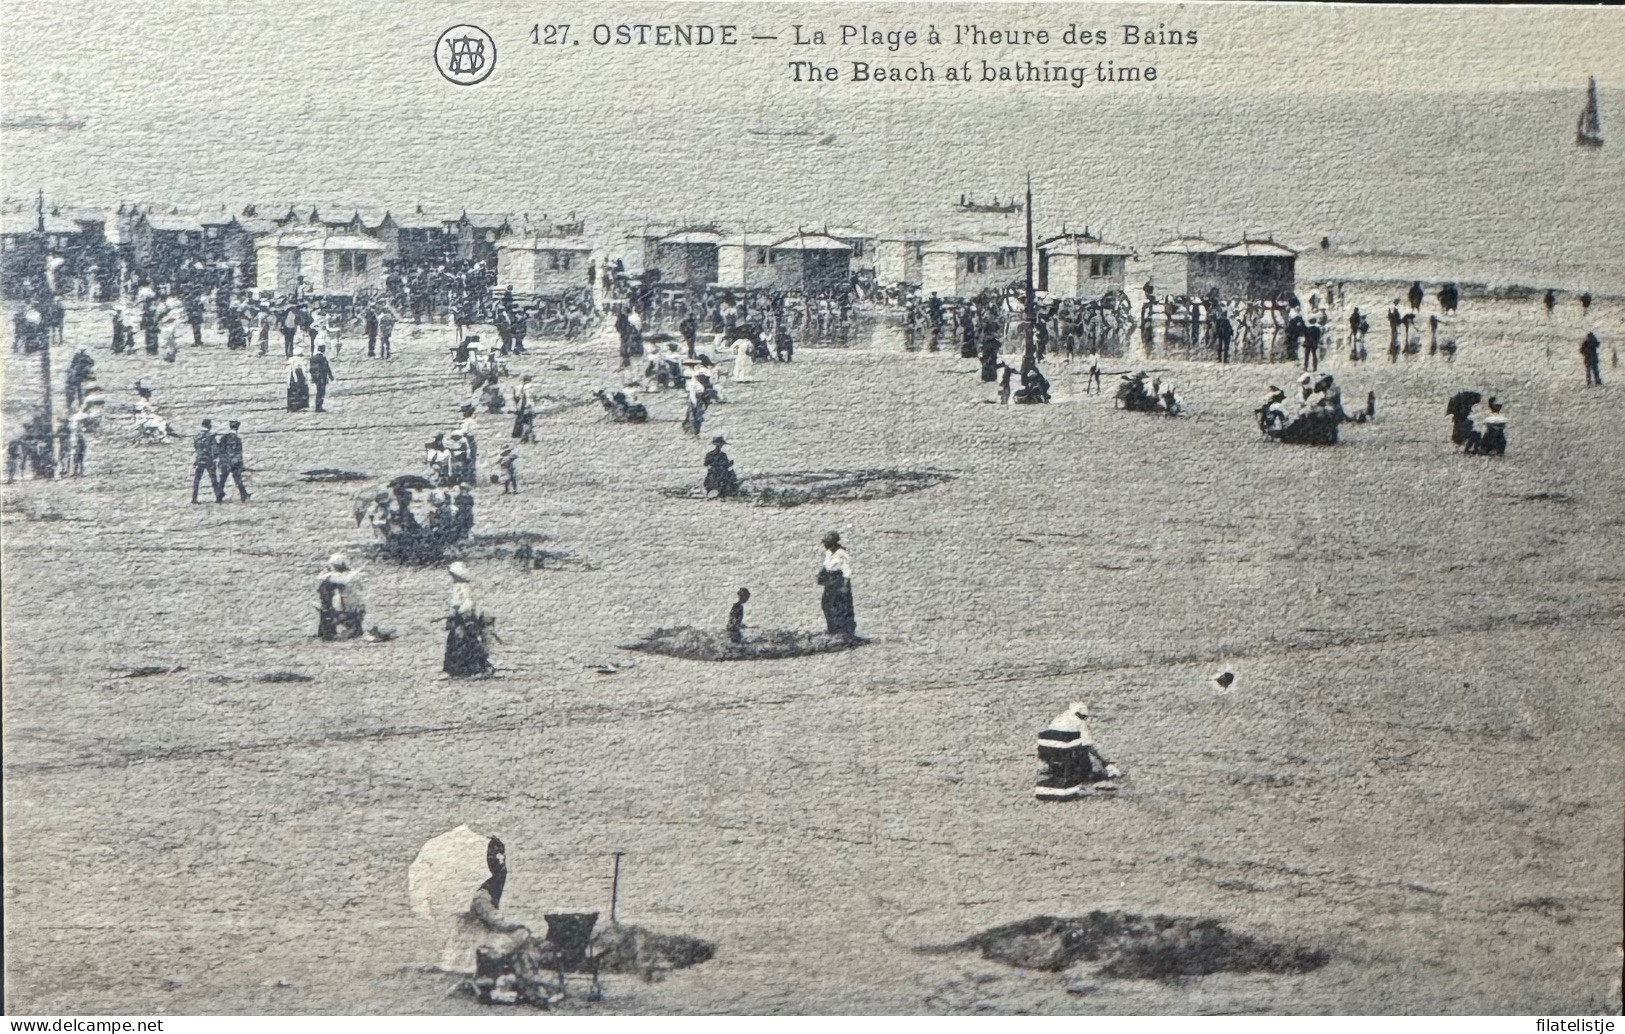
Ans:
MULTIPOLYGON (((1570 309, 1469 298, 1453 364, 1334 353, 1378 419, 1324 450, 1253 424, 1287 366, 1155 359, 1178 419, 1116 411, 1064 363, 1055 405, 998 406, 975 361, 882 327, 725 385, 705 439, 741 475, 954 480, 788 509, 663 491, 702 475, 676 393, 611 424, 569 403, 618 382, 613 332, 533 341, 510 366, 559 405, 522 493, 479 489, 476 532, 543 533, 562 561, 471 564, 502 636, 484 681, 437 675, 445 576, 364 556, 351 501, 372 481, 301 480, 419 470, 462 397, 448 328, 401 327, 388 363, 346 343, 312 415, 283 408, 276 354, 114 356, 107 311, 70 309, 58 363, 91 345, 112 402, 146 377, 182 432, 244 421, 254 501, 190 506, 187 442, 117 424, 83 481, 5 491, 6 1010, 481 1010, 419 969, 439 935, 406 906, 418 847, 460 823, 507 842, 522 920, 608 912, 624 850, 621 919, 717 943, 661 982, 608 979, 611 1013, 1601 1010, 1625 465, 1618 372, 1604 351, 1609 385, 1583 387, 1570 309), (1506 400, 1505 458, 1453 452, 1459 389, 1506 400), (830 528, 869 645, 618 649, 720 628, 739 585, 751 624, 816 629, 830 528), (393 642, 312 637, 340 548, 393 642), (257 681, 283 671, 309 681, 257 681), (1032 798, 1034 733, 1069 699, 1128 771, 1116 798, 1032 798), (1157 982, 913 951, 1092 909, 1216 917, 1331 961, 1157 982)), ((11 429, 36 374, 0 351, 11 429)), ((491 457, 509 418, 481 424, 491 457)))

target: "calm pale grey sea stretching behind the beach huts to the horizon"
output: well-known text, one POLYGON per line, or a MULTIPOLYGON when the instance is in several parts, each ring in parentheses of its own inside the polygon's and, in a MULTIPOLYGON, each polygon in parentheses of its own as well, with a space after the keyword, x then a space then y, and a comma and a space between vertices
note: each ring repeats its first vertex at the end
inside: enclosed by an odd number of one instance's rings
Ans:
POLYGON ((1617 143, 1580 150, 1581 102, 1580 85, 1224 98, 1034 85, 913 104, 837 91, 809 102, 551 98, 522 114, 463 115, 384 101, 336 112, 312 96, 286 119, 254 122, 91 107, 83 130, 6 130, 0 176, 13 200, 46 190, 62 203, 574 211, 614 254, 645 221, 1014 237, 1019 218, 964 216, 954 202, 1008 198, 1030 172, 1040 232, 1087 226, 1141 257, 1175 234, 1254 232, 1310 252, 1308 276, 1618 294, 1625 102, 1602 91, 1617 143), (756 125, 834 141, 762 140, 746 132, 756 125))

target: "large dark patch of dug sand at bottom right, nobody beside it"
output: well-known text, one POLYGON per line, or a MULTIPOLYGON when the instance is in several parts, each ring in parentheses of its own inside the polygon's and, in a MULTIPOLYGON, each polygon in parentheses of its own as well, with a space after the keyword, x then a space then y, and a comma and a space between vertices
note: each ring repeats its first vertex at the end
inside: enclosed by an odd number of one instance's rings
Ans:
POLYGON ((923 953, 982 951, 982 958, 1020 969, 1061 971, 1100 962, 1100 975, 1165 980, 1211 972, 1308 972, 1328 961, 1318 948, 1271 945, 1232 933, 1216 919, 1090 912, 1074 919, 1035 915, 994 927, 957 945, 923 953))

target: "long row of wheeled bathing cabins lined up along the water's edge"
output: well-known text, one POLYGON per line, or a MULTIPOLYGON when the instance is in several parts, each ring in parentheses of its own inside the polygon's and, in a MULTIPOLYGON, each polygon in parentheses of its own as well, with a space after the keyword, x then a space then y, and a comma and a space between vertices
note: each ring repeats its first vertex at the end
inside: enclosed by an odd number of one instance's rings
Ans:
MULTIPOLYGON (((1126 289, 1134 249, 1089 232, 1035 244, 1035 286, 1051 298, 1098 299, 1126 289)), ((62 285, 228 281, 273 294, 296 288, 356 296, 385 286, 390 272, 462 262, 494 268, 500 286, 526 298, 561 298, 588 286, 603 258, 656 273, 666 289, 780 289, 840 293, 855 281, 907 286, 942 299, 975 298, 1025 281, 1025 245, 998 239, 934 239, 926 232, 869 234, 856 228, 796 232, 725 231, 715 224, 660 226, 595 245, 580 219, 505 213, 320 210, 247 205, 239 213, 182 215, 138 205, 112 215, 0 211, 0 286, 6 296, 52 270, 62 285)), ((1178 237, 1150 249, 1159 296, 1274 299, 1292 293, 1297 252, 1269 239, 1235 244, 1178 237)))

